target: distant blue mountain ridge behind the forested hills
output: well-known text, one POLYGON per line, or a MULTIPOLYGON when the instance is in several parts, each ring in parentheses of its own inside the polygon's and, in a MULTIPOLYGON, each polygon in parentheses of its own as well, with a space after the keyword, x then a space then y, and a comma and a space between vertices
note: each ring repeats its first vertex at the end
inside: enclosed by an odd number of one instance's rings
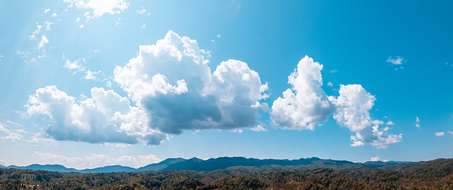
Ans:
POLYGON ((286 166, 311 166, 311 167, 383 167, 386 165, 406 163, 406 162, 382 162, 382 161, 368 161, 365 163, 353 163, 347 160, 330 160, 321 158, 300 158, 297 160, 278 160, 278 159, 257 159, 257 158, 244 158, 244 157, 220 157, 210 158, 208 160, 201 160, 199 158, 168 158, 160 163, 153 163, 139 168, 127 167, 122 165, 109 165, 105 167, 96 167, 93 169, 76 170, 74 168, 67 168, 63 165, 28 165, 28 166, 4 166, 0 168, 16 168, 20 170, 48 170, 53 172, 81 172, 81 173, 94 173, 94 172, 143 172, 143 171, 167 171, 167 170, 193 170, 193 171, 213 171, 219 169, 226 169, 234 166, 252 166, 261 167, 266 165, 277 165, 281 167, 286 166))

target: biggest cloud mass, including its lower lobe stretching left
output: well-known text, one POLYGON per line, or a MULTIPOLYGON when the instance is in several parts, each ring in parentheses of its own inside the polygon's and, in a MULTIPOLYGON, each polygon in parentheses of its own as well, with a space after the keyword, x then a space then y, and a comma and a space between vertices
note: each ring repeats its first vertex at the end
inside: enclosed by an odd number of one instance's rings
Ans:
MULTIPOLYGON (((211 72, 203 52, 195 40, 172 31, 154 45, 140 46, 136 58, 114 70, 114 81, 136 106, 112 90, 93 88, 92 98, 76 103, 57 87, 37 89, 28 113, 47 115, 54 124, 33 140, 157 145, 167 134, 187 129, 265 131, 258 118, 259 109, 267 108, 260 102, 268 96, 267 84, 241 61, 224 61, 211 72)), ((86 70, 79 61, 64 67, 86 70)))

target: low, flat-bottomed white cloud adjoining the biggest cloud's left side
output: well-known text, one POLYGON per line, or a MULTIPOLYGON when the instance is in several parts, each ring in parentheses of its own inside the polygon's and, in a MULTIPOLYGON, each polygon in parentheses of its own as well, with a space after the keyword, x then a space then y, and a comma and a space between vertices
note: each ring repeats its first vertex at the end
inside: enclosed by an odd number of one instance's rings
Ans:
POLYGON ((45 134, 57 141, 136 144, 142 139, 155 145, 168 138, 147 127, 146 113, 114 91, 93 88, 91 96, 77 104, 74 97, 48 86, 37 89, 25 107, 29 115, 47 115, 54 122, 45 134))

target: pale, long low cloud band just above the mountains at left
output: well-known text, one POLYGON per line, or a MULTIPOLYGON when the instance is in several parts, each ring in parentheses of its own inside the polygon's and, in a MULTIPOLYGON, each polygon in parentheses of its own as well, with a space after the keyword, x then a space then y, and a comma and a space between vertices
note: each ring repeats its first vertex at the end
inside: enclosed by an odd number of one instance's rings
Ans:
POLYGON ((83 158, 78 157, 67 157, 52 153, 32 153, 31 158, 33 163, 37 164, 59 164, 65 167, 75 168, 78 170, 91 169, 95 167, 104 167, 107 165, 123 165, 129 167, 143 167, 152 163, 159 163, 162 161, 155 155, 148 156, 119 156, 118 158, 112 158, 107 155, 94 154, 91 156, 84 156, 83 158))

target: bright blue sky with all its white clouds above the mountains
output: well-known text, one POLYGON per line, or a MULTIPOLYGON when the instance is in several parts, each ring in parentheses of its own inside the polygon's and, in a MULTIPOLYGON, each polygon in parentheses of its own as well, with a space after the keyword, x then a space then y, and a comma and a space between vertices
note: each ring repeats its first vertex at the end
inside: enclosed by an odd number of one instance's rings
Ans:
POLYGON ((0 164, 453 158, 452 11, 0 0, 0 164))

